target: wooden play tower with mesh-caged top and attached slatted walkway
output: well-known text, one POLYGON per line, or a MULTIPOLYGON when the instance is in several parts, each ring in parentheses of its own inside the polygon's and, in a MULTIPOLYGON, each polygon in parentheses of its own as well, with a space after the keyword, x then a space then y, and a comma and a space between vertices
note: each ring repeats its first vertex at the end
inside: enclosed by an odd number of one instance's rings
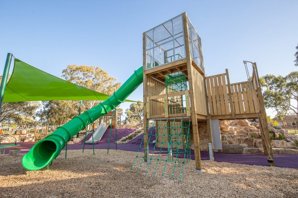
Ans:
MULTIPOLYGON (((197 172, 201 173, 198 122, 207 123, 209 155, 214 159, 212 119, 260 118, 264 154, 271 153, 273 159, 256 64, 252 82, 231 84, 227 69, 206 77, 201 38, 186 12, 143 33, 143 66, 144 129, 150 119, 191 118, 197 172), (178 82, 178 88, 167 84, 178 77, 185 78, 185 83, 178 82)), ((146 142, 148 133, 144 135, 144 149, 146 142)), ((144 152, 147 162, 148 152, 144 152)))

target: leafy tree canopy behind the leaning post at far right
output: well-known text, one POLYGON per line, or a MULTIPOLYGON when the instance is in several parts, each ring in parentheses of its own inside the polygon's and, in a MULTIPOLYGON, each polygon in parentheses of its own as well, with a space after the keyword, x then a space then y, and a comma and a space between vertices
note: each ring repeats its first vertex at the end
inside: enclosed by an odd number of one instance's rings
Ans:
POLYGON ((279 117, 289 111, 298 115, 298 72, 291 72, 285 77, 268 74, 261 78, 260 83, 265 107, 275 109, 279 117))

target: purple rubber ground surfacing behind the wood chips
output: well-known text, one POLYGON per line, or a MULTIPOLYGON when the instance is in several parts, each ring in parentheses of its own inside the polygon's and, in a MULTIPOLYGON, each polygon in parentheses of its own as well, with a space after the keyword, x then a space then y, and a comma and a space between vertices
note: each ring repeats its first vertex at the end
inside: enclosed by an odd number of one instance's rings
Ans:
MULTIPOLYGON (((131 132, 136 130, 130 128, 122 128, 117 129, 117 140, 120 140, 122 137, 127 136, 131 132)), ((107 149, 108 148, 108 140, 109 140, 110 129, 107 129, 106 132, 103 134, 102 139, 99 143, 94 144, 95 149, 107 149)), ((86 140, 89 140, 91 134, 87 135, 86 140)), ((134 138, 128 143, 125 144, 117 144, 118 150, 123 151, 134 151, 137 152, 140 148, 140 144, 142 142, 143 135, 139 135, 138 137, 134 138)), ((154 136, 151 136, 150 142, 155 140, 154 136)), ((115 137, 115 129, 112 129, 111 132, 111 142, 110 142, 110 149, 116 149, 116 137, 115 137)), ((18 148, 22 148, 21 153, 27 153, 30 148, 36 142, 18 142, 20 146, 18 148)), ((11 144, 11 143, 1 143, 4 144, 11 144)), ((80 150, 83 149, 84 141, 69 144, 67 145, 67 150, 80 150)), ((142 145, 143 146, 143 145, 142 145)), ((9 153, 15 147, 7 148, 5 153, 9 153)), ((153 150, 154 144, 149 144, 149 149, 153 150)), ((92 149, 92 144, 85 144, 85 149, 92 149)), ((155 148, 155 150, 159 151, 160 148, 155 148)), ((65 150, 65 148, 63 148, 65 150)), ((164 150, 164 149, 163 149, 164 150)), ((165 149, 164 151, 167 151, 165 149)), ((143 152, 143 151, 140 151, 143 152)), ((158 154, 159 152, 157 152, 158 154)), ((96 154, 96 151, 95 151, 96 154)), ((164 154, 166 154, 164 152, 164 154)), ((194 160, 194 151, 191 150, 191 159, 194 160)), ((179 158, 183 158, 183 156, 179 156, 179 158)), ((201 151, 201 159, 202 160, 209 160, 209 152, 208 151, 201 151)), ((236 153, 218 153, 214 152, 214 160, 217 162, 229 162, 229 163, 237 163, 237 164, 248 164, 248 165, 260 165, 260 166, 269 166, 267 162, 267 156, 263 154, 236 154, 236 153)), ((287 167, 287 168, 296 168, 298 169, 298 155, 282 155, 282 154, 274 154, 274 161, 276 167, 287 167)))

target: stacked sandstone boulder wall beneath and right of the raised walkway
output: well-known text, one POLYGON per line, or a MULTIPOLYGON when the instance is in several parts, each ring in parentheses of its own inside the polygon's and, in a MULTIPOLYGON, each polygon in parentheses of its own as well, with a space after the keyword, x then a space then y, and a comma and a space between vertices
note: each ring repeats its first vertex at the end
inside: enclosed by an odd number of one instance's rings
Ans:
MULTIPOLYGON (((272 127, 268 123, 270 133, 274 137, 279 137, 282 134, 283 140, 271 140, 271 145, 274 154, 298 154, 297 147, 294 145, 298 141, 298 134, 288 134, 288 131, 280 127, 272 127)), ((249 120, 229 120, 220 121, 221 141, 223 149, 219 152, 224 153, 263 153, 263 144, 260 133, 260 126, 257 122, 249 120)), ((198 123, 198 131, 200 138, 200 150, 208 151, 208 135, 207 124, 198 123)), ((191 144, 193 146, 193 133, 191 131, 191 144)))

